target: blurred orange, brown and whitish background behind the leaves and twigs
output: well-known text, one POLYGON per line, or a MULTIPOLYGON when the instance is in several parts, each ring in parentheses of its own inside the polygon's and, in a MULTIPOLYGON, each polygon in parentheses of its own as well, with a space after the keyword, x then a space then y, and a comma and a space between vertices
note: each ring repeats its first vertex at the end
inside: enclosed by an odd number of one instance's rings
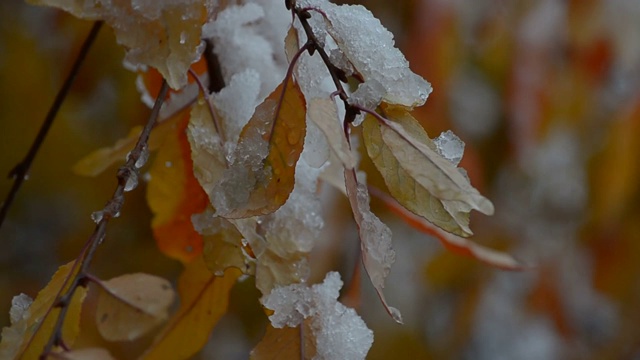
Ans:
MULTIPOLYGON (((451 129, 466 142, 461 166, 496 207, 493 217, 473 215, 473 240, 530 267, 504 272, 448 253, 373 200, 394 232, 386 293, 406 324, 394 324, 363 281, 359 312, 375 334, 368 358, 640 359, 640 2, 351 3, 381 19, 433 85, 415 112, 430 136, 451 129)), ((0 173, 26 154, 90 27, 0 2, 0 173)), ((34 296, 78 254, 89 215, 115 188, 115 168, 83 178, 72 165, 146 120, 123 54, 103 29, 0 229, 0 325, 13 295, 34 296)), ((0 196, 10 186, 0 180, 0 196)), ((346 281, 354 224, 346 200, 327 206, 336 240, 314 261, 346 281)), ((175 279, 181 266, 157 250, 149 224, 142 187, 110 225, 94 272, 175 279)), ((261 338, 266 318, 251 282, 234 289, 202 358, 246 358, 261 338)), ((110 345, 114 355, 129 346, 110 345)))

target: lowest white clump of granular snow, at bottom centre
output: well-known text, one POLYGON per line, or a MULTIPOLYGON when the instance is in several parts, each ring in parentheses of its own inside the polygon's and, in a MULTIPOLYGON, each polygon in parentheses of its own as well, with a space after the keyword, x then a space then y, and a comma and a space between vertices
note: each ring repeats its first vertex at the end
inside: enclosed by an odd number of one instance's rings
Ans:
MULTIPOLYGON (((340 275, 330 272, 322 284, 275 288, 262 299, 262 303, 274 311, 269 316, 274 328, 291 328, 300 324, 304 324, 303 329, 310 328, 308 336, 314 343, 314 359, 365 359, 373 343, 373 332, 355 310, 337 301, 341 287, 340 275)), ((268 333, 262 341, 273 341, 271 335, 268 333)), ((305 342, 309 341, 307 334, 304 335, 305 342)), ((297 341, 299 347, 300 338, 297 341)), ((268 356, 257 356, 263 347, 262 343, 258 344, 252 358, 269 359, 268 356)))

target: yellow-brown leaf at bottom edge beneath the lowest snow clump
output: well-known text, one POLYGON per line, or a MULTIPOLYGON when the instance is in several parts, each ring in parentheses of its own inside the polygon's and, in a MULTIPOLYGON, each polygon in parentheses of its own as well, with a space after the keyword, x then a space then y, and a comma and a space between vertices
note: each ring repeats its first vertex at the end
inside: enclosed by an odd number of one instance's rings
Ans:
POLYGON ((316 356, 316 339, 310 320, 297 327, 274 328, 267 325, 267 332, 249 356, 252 360, 304 359, 316 356))

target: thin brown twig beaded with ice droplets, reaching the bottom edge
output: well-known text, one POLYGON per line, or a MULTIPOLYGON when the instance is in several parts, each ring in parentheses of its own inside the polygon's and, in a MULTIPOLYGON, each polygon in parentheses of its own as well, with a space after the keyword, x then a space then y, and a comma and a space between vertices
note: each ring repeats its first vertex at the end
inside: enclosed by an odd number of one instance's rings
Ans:
MULTIPOLYGON (((118 186, 116 187, 116 190, 114 191, 113 196, 107 202, 107 204, 102 210, 102 214, 103 214, 102 219, 98 221, 98 224, 96 225, 96 228, 93 234, 91 235, 89 240, 87 240, 87 242, 85 243, 82 253, 78 256, 78 258, 76 258, 73 264, 73 267, 69 273, 69 277, 67 277, 67 279, 65 280, 65 284, 61 288, 62 293, 58 294, 58 296, 56 297, 56 300, 53 303, 52 308, 59 307, 60 314, 58 315, 56 319, 56 323, 53 327, 53 333, 40 355, 40 359, 42 360, 46 359, 46 357, 51 353, 54 346, 64 347, 64 342, 62 338, 62 325, 64 323, 66 314, 69 310, 69 304, 71 302, 71 299, 75 294, 75 291, 79 287, 86 285, 86 282, 88 280, 87 270, 91 265, 93 256, 98 246, 102 243, 102 241, 106 236, 107 224, 109 223, 109 220, 119 215, 120 210, 124 205, 124 193, 127 190, 131 190, 130 186, 128 186, 128 183, 131 181, 133 177, 138 176, 139 166, 136 166, 137 165, 136 162, 138 162, 138 159, 140 159, 140 156, 142 155, 142 153, 147 151, 146 147, 147 147, 147 142, 149 140, 149 135, 151 134, 151 130, 153 129, 153 127, 156 124, 156 121, 158 120, 160 108, 164 103, 164 99, 167 96, 168 91, 169 91, 169 85, 167 84, 166 80, 163 80, 162 87, 160 89, 160 94, 156 98, 156 102, 153 105, 151 115, 149 115, 149 120, 147 121, 147 124, 145 125, 144 129, 142 130, 142 133, 138 138, 136 146, 129 153, 127 162, 122 167, 120 167, 120 169, 118 169, 118 174, 117 174, 118 186)), ((50 310, 51 309, 49 309, 49 312, 50 310)), ((34 333, 36 332, 37 330, 34 331, 34 333)))

